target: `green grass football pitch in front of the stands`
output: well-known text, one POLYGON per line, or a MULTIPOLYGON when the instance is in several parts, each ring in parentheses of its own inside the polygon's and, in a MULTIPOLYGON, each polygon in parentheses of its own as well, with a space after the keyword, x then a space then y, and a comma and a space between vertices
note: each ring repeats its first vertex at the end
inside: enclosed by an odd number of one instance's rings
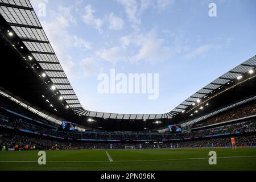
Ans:
POLYGON ((46 151, 46 165, 38 164, 38 151, 0 152, 0 170, 256 170, 256 148, 106 151, 46 151), (217 152, 216 165, 209 151, 217 152))

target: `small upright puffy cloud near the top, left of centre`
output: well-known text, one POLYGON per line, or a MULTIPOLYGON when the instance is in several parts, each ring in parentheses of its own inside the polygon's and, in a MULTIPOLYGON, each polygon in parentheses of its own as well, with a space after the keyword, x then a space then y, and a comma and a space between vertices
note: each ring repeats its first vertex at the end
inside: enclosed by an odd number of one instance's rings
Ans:
POLYGON ((84 8, 84 15, 82 15, 82 20, 86 24, 92 25, 96 30, 98 30, 100 33, 102 33, 102 24, 104 23, 102 19, 96 18, 93 14, 95 13, 95 10, 92 9, 91 5, 87 5, 84 8))

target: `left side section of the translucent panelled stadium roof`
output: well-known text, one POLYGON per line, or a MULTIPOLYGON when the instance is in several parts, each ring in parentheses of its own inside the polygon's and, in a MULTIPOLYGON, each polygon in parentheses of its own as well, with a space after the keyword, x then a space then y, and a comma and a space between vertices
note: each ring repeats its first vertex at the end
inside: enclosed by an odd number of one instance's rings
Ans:
POLYGON ((56 86, 71 109, 81 109, 67 76, 28 0, 0 0, 0 14, 6 20, 20 42, 26 46, 35 62, 56 86))

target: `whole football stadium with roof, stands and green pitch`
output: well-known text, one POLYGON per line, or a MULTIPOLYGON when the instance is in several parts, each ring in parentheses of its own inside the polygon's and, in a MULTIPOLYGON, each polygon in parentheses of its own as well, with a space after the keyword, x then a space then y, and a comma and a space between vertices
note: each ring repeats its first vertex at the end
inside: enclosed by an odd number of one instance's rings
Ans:
POLYGON ((235 67, 215 57, 220 74, 196 92, 177 81, 190 94, 176 90, 167 113, 92 111, 42 24, 30 1, 0 0, 0 171, 256 170, 254 54, 235 67))

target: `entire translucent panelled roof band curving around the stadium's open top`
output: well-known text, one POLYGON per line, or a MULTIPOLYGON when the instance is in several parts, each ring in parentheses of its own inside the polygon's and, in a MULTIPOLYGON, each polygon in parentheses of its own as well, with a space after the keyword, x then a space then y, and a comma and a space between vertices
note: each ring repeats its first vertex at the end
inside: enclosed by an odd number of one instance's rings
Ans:
POLYGON ((250 69, 256 67, 256 57, 245 61, 244 63, 233 68, 224 75, 218 77, 210 84, 204 86, 198 92, 181 102, 172 111, 165 114, 115 114, 102 113, 96 111, 85 110, 80 104, 59 60, 49 40, 37 18, 34 9, 28 0, 0 0, 0 14, 6 20, 7 25, 18 36, 19 41, 26 46, 30 55, 34 58, 36 63, 42 67, 44 73, 51 80, 52 84, 56 86, 56 90, 61 94, 63 100, 71 107, 75 113, 85 115, 87 117, 110 118, 110 119, 164 119, 174 117, 175 115, 184 112, 184 110, 191 107, 198 100, 203 100, 210 93, 214 92, 234 80, 241 74, 245 74, 250 69))

